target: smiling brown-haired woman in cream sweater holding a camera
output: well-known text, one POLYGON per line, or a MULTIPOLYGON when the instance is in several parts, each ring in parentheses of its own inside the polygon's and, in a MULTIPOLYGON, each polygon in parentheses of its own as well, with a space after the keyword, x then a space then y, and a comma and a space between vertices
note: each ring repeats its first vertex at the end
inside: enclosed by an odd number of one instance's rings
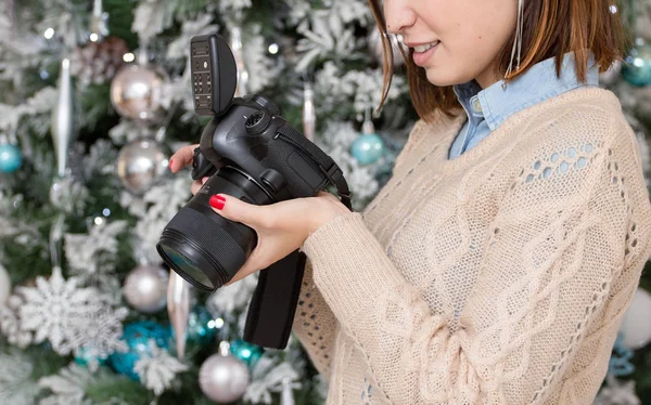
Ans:
POLYGON ((421 117, 394 177, 363 213, 326 193, 213 196, 258 233, 233 282, 307 254, 294 330, 328 403, 590 404, 651 253, 636 139, 597 87, 618 15, 605 0, 370 4, 409 47, 421 117))

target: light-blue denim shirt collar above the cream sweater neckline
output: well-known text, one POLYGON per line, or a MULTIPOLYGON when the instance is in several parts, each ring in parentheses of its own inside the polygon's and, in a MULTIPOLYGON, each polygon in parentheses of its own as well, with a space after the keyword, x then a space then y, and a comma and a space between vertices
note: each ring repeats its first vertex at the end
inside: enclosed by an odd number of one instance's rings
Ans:
MULTIPOLYGON (((599 67, 592 53, 589 54, 586 79, 587 84, 599 86, 599 67)), ((475 80, 471 80, 454 87, 471 122, 486 120, 488 128, 495 131, 511 115, 583 86, 576 75, 573 52, 564 55, 560 78, 556 75, 556 57, 550 57, 513 79, 506 89, 500 80, 482 90, 475 80)))

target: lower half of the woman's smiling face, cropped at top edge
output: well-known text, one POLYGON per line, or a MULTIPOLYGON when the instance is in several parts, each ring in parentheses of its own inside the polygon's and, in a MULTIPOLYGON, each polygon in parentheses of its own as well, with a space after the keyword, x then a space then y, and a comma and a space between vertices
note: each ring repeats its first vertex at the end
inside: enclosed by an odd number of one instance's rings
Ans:
POLYGON ((388 31, 403 36, 427 80, 442 87, 499 80, 495 61, 515 32, 516 12, 516 0, 384 0, 388 31))

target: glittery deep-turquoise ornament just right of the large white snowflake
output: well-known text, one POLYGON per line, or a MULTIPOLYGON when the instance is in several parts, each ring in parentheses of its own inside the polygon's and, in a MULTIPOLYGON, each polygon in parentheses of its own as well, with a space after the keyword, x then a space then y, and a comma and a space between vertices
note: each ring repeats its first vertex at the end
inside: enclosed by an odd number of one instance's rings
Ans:
POLYGON ((127 343, 126 352, 115 352, 108 361, 113 369, 135 381, 139 381, 138 373, 133 370, 136 363, 143 356, 151 356, 150 340, 161 349, 169 347, 171 335, 169 328, 153 321, 142 321, 125 325, 122 340, 127 343))

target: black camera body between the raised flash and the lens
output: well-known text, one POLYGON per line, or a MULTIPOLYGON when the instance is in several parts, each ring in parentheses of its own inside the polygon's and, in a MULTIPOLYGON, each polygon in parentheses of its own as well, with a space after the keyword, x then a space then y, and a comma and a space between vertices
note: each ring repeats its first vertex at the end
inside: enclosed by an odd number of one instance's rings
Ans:
POLYGON ((208 165, 215 170, 230 167, 250 175, 272 203, 314 196, 328 185, 328 173, 289 136, 302 135, 271 101, 261 95, 234 99, 228 115, 214 117, 205 128, 195 153, 203 158, 194 160, 193 178, 210 173, 208 165))

